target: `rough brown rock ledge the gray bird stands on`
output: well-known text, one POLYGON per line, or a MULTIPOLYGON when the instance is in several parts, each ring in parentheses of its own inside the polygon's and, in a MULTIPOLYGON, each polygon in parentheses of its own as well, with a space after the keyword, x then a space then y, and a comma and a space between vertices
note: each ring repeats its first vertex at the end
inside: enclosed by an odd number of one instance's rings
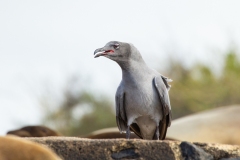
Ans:
POLYGON ((65 160, 240 160, 240 146, 237 145, 141 139, 91 140, 76 137, 26 139, 47 145, 65 160))

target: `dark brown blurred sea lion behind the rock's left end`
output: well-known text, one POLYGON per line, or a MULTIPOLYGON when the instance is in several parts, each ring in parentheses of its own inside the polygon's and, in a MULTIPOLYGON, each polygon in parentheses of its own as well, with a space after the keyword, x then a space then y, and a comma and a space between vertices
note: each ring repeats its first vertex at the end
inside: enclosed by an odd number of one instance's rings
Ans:
POLYGON ((61 136, 56 131, 45 126, 26 126, 17 130, 9 131, 7 134, 12 134, 19 137, 61 136))

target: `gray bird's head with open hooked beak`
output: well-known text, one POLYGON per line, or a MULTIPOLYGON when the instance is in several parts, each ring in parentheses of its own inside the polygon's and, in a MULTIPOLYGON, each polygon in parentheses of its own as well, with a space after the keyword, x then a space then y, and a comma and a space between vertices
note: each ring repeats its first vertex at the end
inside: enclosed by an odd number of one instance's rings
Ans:
POLYGON ((125 61, 131 53, 131 46, 128 43, 110 41, 104 47, 94 51, 94 58, 104 56, 114 61, 125 61))

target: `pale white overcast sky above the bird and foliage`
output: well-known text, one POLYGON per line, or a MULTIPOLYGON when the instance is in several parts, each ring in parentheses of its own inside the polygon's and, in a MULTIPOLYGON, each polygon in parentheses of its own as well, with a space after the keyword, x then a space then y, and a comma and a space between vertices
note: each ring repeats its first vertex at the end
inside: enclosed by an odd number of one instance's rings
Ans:
POLYGON ((67 77, 114 101, 121 70, 95 49, 111 40, 134 44, 163 72, 169 58, 221 67, 240 45, 238 0, 0 0, 0 135, 41 123, 39 97, 59 93, 67 77))

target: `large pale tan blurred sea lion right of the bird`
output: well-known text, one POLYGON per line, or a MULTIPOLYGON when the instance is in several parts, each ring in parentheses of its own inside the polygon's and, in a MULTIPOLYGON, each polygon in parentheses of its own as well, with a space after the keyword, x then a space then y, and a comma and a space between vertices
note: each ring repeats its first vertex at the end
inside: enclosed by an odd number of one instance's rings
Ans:
POLYGON ((176 119, 169 127, 167 136, 182 141, 240 145, 240 105, 176 119))

